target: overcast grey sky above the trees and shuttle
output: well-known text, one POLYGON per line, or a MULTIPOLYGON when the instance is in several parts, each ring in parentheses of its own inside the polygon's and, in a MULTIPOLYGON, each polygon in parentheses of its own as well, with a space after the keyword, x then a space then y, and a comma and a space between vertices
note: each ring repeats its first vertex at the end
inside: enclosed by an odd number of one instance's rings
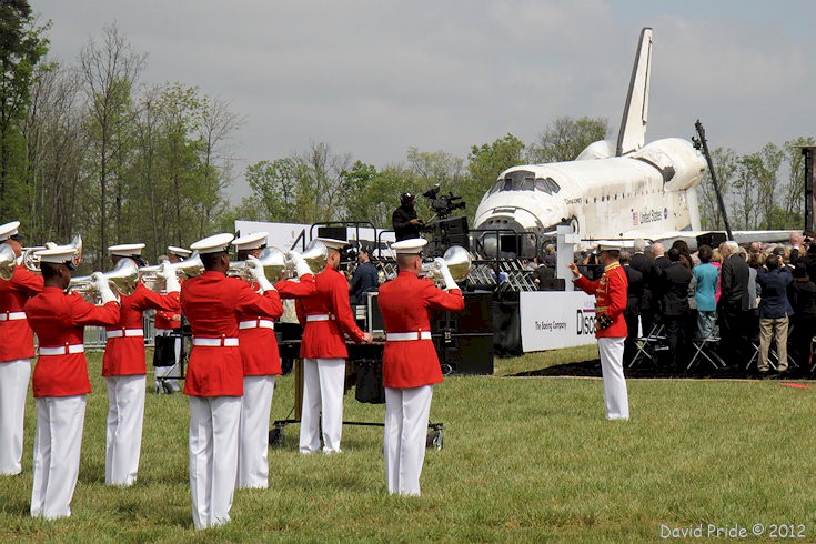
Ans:
MULTIPOLYGON (((688 139, 697 118, 737 153, 816 133, 812 0, 30 1, 61 62, 115 21, 149 56, 142 83, 229 101, 246 119, 231 142, 241 172, 310 142, 377 168, 411 145, 465 159, 563 115, 605 117, 615 139, 643 27, 647 142, 688 139)), ((239 180, 233 202, 248 191, 239 180)))

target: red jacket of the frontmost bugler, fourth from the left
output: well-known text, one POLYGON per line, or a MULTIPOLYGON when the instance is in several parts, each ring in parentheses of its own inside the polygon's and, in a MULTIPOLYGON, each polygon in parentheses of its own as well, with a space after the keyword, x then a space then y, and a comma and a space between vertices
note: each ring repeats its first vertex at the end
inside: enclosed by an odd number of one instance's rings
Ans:
POLYGON ((194 339, 238 339, 241 314, 274 319, 283 311, 278 293, 270 290, 258 294, 245 281, 209 270, 181 286, 181 310, 193 333, 184 393, 193 396, 243 395, 239 347, 194 345, 194 339))

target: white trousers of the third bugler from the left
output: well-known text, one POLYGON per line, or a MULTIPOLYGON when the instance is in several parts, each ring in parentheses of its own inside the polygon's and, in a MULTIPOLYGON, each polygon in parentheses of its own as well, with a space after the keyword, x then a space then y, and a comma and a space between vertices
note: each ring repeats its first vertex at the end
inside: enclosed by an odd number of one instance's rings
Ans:
POLYGON ((145 375, 108 376, 107 485, 132 485, 139 471, 145 375))

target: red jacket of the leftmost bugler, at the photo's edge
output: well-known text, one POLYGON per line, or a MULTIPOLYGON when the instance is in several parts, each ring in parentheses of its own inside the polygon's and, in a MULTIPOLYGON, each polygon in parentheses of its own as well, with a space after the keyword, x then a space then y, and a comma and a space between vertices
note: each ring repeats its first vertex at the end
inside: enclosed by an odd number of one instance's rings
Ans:
MULTIPOLYGON (((0 280, 0 314, 23 312, 26 301, 42 291, 42 276, 16 266, 9 281, 0 280)), ((12 315, 13 316, 13 315, 12 315)), ((0 321, 0 363, 34 356, 34 333, 27 319, 0 321)))

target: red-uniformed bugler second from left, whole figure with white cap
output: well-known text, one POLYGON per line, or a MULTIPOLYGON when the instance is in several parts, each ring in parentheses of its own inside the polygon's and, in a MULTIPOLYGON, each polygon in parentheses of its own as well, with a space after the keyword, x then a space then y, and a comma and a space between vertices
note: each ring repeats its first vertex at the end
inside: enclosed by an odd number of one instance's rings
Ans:
POLYGON ((119 302, 99 272, 91 281, 101 306, 79 294, 66 294, 74 264, 73 246, 60 245, 37 254, 44 286, 26 303, 26 314, 40 342, 33 377, 37 431, 31 515, 56 518, 71 515, 79 475, 85 395, 91 392, 83 331, 85 325, 117 323, 119 302))

